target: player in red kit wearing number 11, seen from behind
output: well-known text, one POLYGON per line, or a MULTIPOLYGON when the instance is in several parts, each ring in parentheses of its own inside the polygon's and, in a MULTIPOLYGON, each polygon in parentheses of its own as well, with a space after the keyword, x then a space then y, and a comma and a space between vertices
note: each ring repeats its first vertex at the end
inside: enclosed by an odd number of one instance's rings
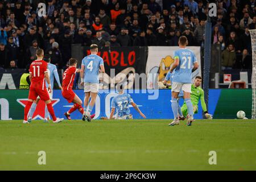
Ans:
POLYGON ((33 101, 35 101, 38 96, 40 97, 41 100, 46 102, 47 109, 52 116, 53 122, 55 122, 55 123, 61 122, 61 121, 63 121, 63 118, 55 117, 55 113, 54 113, 53 107, 52 107, 52 102, 49 98, 49 94, 46 89, 46 81, 47 81, 47 83, 49 84, 48 90, 49 90, 49 92, 52 91, 51 82, 49 80, 49 75, 47 73, 48 72, 47 71, 48 64, 46 63, 46 61, 43 60, 43 57, 44 57, 43 49, 38 49, 36 51, 36 57, 38 59, 33 61, 30 65, 31 85, 30 85, 30 92, 28 94, 28 102, 24 109, 23 123, 28 123, 27 122, 28 111, 30 110, 30 107, 31 107, 33 101))

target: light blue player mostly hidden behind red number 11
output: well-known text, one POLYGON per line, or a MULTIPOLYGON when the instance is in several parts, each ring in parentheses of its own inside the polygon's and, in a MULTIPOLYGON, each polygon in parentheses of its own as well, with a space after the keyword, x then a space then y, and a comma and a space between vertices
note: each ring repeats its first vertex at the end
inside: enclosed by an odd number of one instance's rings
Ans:
MULTIPOLYGON (((53 85, 53 76, 55 77, 56 81, 57 81, 57 84, 59 85, 59 88, 62 90, 62 86, 60 84, 60 78, 59 78, 59 74, 57 72, 57 68, 56 68, 56 65, 54 64, 51 64, 51 56, 50 55, 44 55, 44 61, 46 61, 48 63, 48 73, 49 73, 49 79, 50 79, 50 82, 51 82, 51 85, 53 85)), ((48 88, 48 83, 46 82, 46 87, 48 88)), ((53 89, 51 92, 48 92, 49 93, 49 97, 51 98, 52 100, 52 96, 53 96, 53 89)), ((32 104, 31 106, 31 109, 30 109, 30 112, 29 112, 29 117, 28 117, 28 122, 31 122, 32 120, 32 115, 34 114, 35 112, 35 109, 36 109, 36 105, 38 104, 40 100, 40 97, 38 97, 32 104)), ((47 106, 45 108, 45 113, 44 113, 44 122, 48 122, 48 117, 49 117, 49 111, 47 109, 47 106)))

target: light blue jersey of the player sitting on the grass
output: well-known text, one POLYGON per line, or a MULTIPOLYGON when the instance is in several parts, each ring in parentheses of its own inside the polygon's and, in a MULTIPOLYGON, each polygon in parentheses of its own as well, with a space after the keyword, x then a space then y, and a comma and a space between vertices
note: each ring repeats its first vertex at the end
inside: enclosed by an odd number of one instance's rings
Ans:
POLYGON ((133 102, 133 99, 131 98, 130 94, 118 94, 118 96, 115 96, 113 98, 111 102, 111 108, 117 109, 118 117, 122 117, 123 115, 129 115, 129 104, 131 104, 131 102, 133 102))

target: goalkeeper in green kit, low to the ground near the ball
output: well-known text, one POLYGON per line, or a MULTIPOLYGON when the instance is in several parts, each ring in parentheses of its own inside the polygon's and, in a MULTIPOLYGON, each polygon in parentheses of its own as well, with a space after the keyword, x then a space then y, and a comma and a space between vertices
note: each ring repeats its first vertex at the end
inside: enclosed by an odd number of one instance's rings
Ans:
MULTIPOLYGON (((196 76, 194 84, 191 85, 191 102, 193 105, 193 113, 198 112, 198 104, 200 99, 205 118, 212 119, 212 115, 208 113, 207 106, 204 101, 204 90, 200 87, 201 82, 202 82, 202 77, 196 76)), ((183 115, 188 114, 188 107, 185 102, 181 107, 181 112, 183 113, 183 115)))

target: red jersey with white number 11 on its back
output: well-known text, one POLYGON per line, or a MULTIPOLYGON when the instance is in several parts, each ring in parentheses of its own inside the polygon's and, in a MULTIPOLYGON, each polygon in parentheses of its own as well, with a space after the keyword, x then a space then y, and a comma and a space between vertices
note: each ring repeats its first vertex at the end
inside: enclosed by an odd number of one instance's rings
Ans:
POLYGON ((46 87, 44 73, 47 72, 48 64, 44 60, 35 60, 30 65, 32 74, 31 87, 44 90, 46 87))

